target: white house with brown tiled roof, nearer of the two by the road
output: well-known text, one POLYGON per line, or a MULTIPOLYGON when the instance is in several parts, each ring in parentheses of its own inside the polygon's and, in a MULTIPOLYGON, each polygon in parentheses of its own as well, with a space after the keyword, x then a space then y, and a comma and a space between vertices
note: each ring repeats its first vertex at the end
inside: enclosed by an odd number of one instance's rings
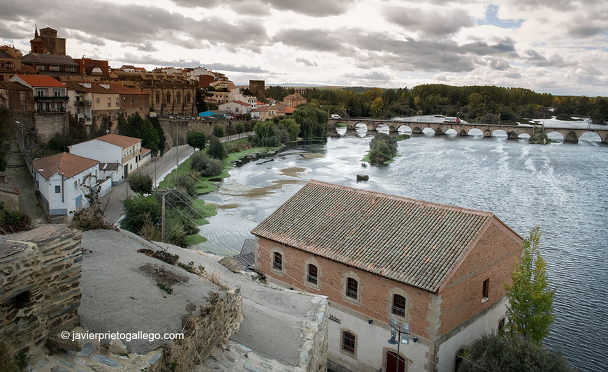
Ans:
POLYGON ((98 165, 99 161, 67 152, 32 161, 36 188, 48 214, 67 215, 86 207, 82 182, 89 174, 97 177, 98 165))

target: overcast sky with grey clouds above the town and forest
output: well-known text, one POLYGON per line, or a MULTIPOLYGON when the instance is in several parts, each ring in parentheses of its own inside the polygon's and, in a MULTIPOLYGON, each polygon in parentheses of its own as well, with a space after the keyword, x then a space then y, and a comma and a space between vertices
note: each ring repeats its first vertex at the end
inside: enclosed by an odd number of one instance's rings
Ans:
POLYGON ((0 0, 0 43, 236 84, 491 84, 608 96, 607 0, 0 0))

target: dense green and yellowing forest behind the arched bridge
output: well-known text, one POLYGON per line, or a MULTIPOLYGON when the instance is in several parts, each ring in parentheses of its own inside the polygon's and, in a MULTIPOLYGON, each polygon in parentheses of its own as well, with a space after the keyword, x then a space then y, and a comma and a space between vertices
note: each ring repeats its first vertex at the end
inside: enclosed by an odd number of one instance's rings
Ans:
MULTIPOLYGON (((443 114, 471 122, 526 122, 557 116, 591 117, 595 124, 608 121, 608 98, 553 96, 530 89, 495 86, 452 87, 424 84, 411 89, 350 87, 345 89, 298 89, 311 105, 342 117, 408 117, 443 114)), ((296 89, 268 87, 266 96, 276 100, 296 89)))

